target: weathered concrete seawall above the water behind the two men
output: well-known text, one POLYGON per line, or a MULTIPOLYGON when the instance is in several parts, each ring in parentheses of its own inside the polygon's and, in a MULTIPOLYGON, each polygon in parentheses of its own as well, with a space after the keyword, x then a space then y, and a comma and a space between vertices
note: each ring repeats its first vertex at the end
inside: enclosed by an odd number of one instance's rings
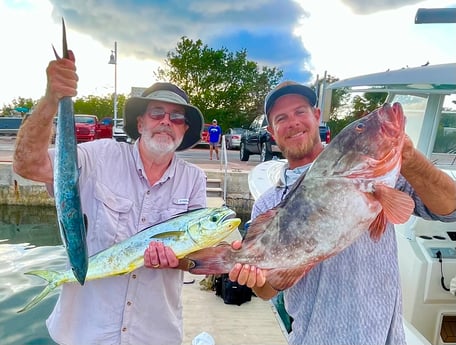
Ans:
MULTIPOLYGON (((225 173, 220 169, 202 167, 209 179, 220 179, 224 185, 225 173)), ((253 198, 249 192, 248 171, 228 170, 226 174, 226 204, 239 213, 250 212, 253 198)), ((44 183, 24 179, 14 173, 10 162, 0 163, 0 204, 25 206, 54 206, 44 183)))

